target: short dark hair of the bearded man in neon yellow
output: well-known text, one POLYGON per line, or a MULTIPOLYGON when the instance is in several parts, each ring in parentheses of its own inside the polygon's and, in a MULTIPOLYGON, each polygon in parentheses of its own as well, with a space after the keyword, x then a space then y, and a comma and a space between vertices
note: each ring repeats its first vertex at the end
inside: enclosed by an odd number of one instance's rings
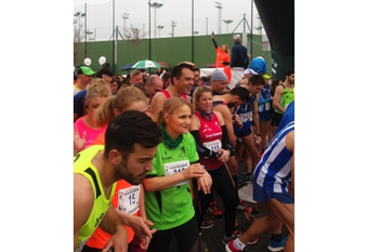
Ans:
POLYGON ((134 151, 134 144, 154 148, 160 142, 160 130, 151 117, 128 110, 114 117, 106 128, 104 154, 107 157, 112 149, 117 149, 125 157, 134 151))

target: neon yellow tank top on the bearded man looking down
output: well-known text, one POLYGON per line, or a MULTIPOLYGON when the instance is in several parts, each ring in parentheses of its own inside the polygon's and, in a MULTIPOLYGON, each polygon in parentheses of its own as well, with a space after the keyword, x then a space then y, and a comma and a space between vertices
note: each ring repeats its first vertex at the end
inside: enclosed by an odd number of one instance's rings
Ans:
POLYGON ((79 173, 86 176, 90 181, 94 191, 93 208, 89 218, 80 228, 75 251, 81 251, 87 240, 92 236, 108 210, 112 198, 115 194, 116 183, 114 183, 112 186, 109 197, 105 198, 97 169, 91 162, 93 157, 103 149, 104 145, 94 145, 80 151, 76 157, 74 157, 74 173, 79 173))

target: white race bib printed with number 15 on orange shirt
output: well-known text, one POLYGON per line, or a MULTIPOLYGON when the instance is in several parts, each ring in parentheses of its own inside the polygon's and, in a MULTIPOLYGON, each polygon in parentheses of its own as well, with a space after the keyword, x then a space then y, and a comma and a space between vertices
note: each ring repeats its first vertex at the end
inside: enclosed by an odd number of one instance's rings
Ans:
POLYGON ((139 211, 140 186, 131 186, 118 191, 118 210, 134 214, 139 211))

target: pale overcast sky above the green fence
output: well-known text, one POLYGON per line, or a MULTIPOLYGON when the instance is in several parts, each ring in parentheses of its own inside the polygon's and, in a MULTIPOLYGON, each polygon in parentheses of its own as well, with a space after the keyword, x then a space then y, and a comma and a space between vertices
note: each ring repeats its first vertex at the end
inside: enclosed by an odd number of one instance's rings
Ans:
MULTIPOLYGON (((191 0, 151 0, 151 3, 158 2, 164 5, 158 9, 151 9, 152 38, 174 36, 191 36, 192 34, 192 1, 191 0), (175 27, 172 27, 175 22, 175 27), (154 29, 156 26, 164 26, 161 30, 154 29)), ((251 1, 238 0, 238 5, 233 0, 218 1, 222 9, 215 8, 214 0, 194 0, 194 31, 198 35, 210 35, 219 32, 219 13, 221 10, 221 32, 249 32, 251 27, 251 1), (246 14, 246 23, 244 22, 246 14), (233 21, 226 25, 223 21, 233 21), (245 27, 244 27, 245 24, 245 27)), ((99 40, 109 40, 113 35, 113 0, 74 0, 74 12, 86 13, 87 3, 87 30, 92 31, 93 38, 99 40)), ((260 25, 259 14, 253 5, 252 26, 260 25)), ((81 24, 84 18, 80 18, 81 24)), ((130 25, 145 31, 148 37, 148 0, 115 0, 115 26, 121 30, 125 25, 130 25), (122 15, 129 14, 128 19, 122 15)), ((258 34, 254 29, 253 32, 258 34)), ((122 34, 122 32, 121 32, 122 34)))

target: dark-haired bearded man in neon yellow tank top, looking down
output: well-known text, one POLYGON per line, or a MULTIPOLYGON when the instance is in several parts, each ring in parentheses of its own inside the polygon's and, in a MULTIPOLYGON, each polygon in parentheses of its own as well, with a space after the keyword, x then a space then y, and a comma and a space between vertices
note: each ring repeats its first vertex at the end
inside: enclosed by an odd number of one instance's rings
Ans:
MULTIPOLYGON (((106 251, 127 252, 128 233, 115 208, 109 208, 115 182, 141 184, 153 170, 160 142, 161 133, 153 120, 129 110, 112 119, 104 146, 91 146, 74 157, 74 251, 81 251, 100 226, 114 235, 104 247, 106 251)), ((146 237, 152 238, 153 233, 146 225, 146 237)))

